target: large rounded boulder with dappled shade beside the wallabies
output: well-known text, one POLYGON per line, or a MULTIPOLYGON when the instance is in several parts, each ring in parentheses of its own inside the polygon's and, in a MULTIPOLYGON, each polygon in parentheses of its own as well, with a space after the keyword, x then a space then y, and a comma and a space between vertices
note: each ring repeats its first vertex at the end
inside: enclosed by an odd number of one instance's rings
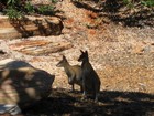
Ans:
POLYGON ((22 61, 12 61, 0 70, 0 104, 18 104, 25 107, 47 97, 55 76, 25 65, 24 62, 21 63, 23 66, 14 65, 16 62, 22 61))

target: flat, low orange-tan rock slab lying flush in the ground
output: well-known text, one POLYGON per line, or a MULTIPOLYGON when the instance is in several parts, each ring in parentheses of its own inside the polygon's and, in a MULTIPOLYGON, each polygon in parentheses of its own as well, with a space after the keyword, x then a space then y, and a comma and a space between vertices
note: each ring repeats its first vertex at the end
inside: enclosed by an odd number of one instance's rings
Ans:
POLYGON ((15 42, 10 44, 9 48, 26 55, 44 55, 68 50, 73 48, 73 44, 64 40, 53 41, 52 39, 37 39, 15 42))

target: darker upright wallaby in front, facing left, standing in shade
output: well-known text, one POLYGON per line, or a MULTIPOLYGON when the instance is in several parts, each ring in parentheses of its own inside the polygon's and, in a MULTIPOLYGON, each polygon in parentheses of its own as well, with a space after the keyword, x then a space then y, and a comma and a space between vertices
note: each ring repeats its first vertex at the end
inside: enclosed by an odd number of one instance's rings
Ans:
POLYGON ((87 97, 87 94, 92 94, 95 102, 98 102, 98 95, 100 92, 100 78, 92 65, 89 63, 88 52, 82 52, 78 59, 81 63, 82 68, 82 88, 84 88, 84 98, 87 97))

